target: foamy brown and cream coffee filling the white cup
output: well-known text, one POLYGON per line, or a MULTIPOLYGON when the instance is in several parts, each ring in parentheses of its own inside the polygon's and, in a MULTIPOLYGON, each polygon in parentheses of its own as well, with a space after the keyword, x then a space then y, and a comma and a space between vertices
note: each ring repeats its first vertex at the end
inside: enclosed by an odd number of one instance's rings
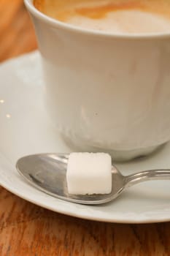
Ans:
POLYGON ((34 0, 52 18, 112 33, 170 32, 170 0, 34 0))

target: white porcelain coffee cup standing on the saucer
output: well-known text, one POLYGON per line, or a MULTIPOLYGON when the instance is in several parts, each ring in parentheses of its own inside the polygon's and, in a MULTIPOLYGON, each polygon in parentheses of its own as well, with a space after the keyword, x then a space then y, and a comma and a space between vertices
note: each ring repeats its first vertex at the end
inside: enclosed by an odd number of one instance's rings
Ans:
POLYGON ((170 140, 170 34, 108 34, 25 0, 42 53, 47 108, 73 148, 125 160, 170 140))

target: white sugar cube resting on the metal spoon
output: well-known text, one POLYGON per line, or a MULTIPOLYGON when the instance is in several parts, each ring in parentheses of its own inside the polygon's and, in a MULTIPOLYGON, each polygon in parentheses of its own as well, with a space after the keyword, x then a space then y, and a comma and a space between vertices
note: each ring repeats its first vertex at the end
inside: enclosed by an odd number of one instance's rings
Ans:
POLYGON ((105 153, 72 153, 66 181, 69 194, 109 194, 112 191, 112 159, 105 153))

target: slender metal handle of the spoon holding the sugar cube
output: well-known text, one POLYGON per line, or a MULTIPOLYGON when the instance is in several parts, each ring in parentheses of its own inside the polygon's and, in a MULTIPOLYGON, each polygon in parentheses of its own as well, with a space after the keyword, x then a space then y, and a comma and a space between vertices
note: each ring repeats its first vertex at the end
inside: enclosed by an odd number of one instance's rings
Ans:
POLYGON ((170 169, 145 170, 125 176, 125 187, 131 187, 143 181, 167 180, 170 179, 170 169))

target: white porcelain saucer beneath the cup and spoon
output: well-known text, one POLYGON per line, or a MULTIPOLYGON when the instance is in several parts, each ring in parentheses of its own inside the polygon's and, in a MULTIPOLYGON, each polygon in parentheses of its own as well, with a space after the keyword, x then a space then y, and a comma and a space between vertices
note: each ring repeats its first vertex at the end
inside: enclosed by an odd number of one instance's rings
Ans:
MULTIPOLYGON (((61 141, 43 105, 39 53, 0 66, 0 184, 10 192, 62 214, 104 222, 146 223, 170 220, 170 181, 136 185, 103 206, 81 206, 55 199, 27 184, 15 170, 18 158, 42 152, 71 151, 61 141)), ((170 143, 146 159, 117 165, 128 174, 170 167, 170 143)))

